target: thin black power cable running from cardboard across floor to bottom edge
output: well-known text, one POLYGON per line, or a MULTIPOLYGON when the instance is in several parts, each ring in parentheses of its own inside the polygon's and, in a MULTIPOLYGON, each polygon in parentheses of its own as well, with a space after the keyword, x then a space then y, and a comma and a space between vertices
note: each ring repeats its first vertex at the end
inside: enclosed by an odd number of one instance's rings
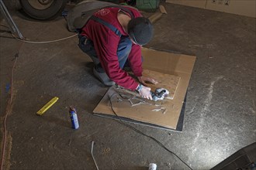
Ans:
MULTIPOLYGON (((111 107, 111 110, 113 111, 114 114, 116 114, 116 111, 113 109, 112 107, 112 97, 114 96, 114 94, 117 94, 117 93, 112 93, 112 95, 109 97, 109 100, 110 100, 110 107, 111 107)), ((162 148, 164 148, 166 151, 170 152, 171 154, 175 155, 183 164, 185 164, 188 168, 190 168, 192 170, 192 168, 186 164, 182 158, 179 158, 178 155, 176 155, 174 152, 172 152, 171 150, 169 150, 168 148, 166 148, 160 141, 157 141, 156 138, 153 138, 147 134, 144 134, 142 131, 138 130, 137 128, 134 128, 133 126, 131 126, 130 124, 126 124, 117 114, 116 114, 116 117, 118 117, 119 121, 121 121, 123 123, 123 125, 125 125, 126 127, 132 129, 133 131, 136 131, 137 133, 139 134, 142 134, 144 136, 146 136, 147 138, 150 138, 152 139, 153 141, 157 142, 158 145, 160 145, 162 148)))

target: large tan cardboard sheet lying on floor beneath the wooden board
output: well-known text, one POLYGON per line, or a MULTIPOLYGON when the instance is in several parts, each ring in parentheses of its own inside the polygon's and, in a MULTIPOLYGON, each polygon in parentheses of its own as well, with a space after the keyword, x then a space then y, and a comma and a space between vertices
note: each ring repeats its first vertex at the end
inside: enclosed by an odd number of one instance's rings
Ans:
MULTIPOLYGON (((112 107, 119 117, 141 124, 151 124, 176 130, 195 63, 195 56, 167 53, 145 48, 142 50, 142 53, 144 56, 144 69, 153 71, 153 73, 159 72, 163 73, 163 75, 169 74, 180 77, 174 99, 157 102, 146 100, 145 104, 131 107, 130 101, 128 100, 129 96, 122 98, 116 93, 115 88, 111 87, 93 113, 115 118, 116 115, 110 107, 109 97, 111 97, 112 107), (154 109, 161 107, 166 110, 165 113, 164 109, 154 111, 154 109)), ((157 79, 157 77, 155 78, 157 79)), ((136 99, 133 99, 133 103, 138 102, 139 100, 136 101, 136 99)))

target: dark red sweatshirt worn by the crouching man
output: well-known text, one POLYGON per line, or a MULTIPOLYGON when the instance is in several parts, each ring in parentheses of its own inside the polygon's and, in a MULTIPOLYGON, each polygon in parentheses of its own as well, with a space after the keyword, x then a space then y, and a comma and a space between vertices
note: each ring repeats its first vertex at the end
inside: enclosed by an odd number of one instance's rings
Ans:
MULTIPOLYGON (((133 13, 134 18, 141 16, 137 9, 129 9, 133 13)), ((98 12, 95 12, 94 15, 99 19, 108 22, 112 26, 115 26, 123 36, 129 36, 117 19, 119 10, 120 9, 118 7, 102 8, 98 12)), ((137 88, 139 83, 137 83, 137 81, 135 81, 131 76, 128 75, 128 73, 119 67, 116 51, 119 45, 120 37, 117 36, 115 32, 113 32, 107 26, 102 25, 102 23, 90 19, 83 27, 81 35, 92 40, 99 61, 102 64, 103 69, 106 71, 106 74, 112 81, 119 84, 121 87, 125 87, 126 89, 135 90, 137 88)), ((139 45, 133 44, 128 56, 130 67, 135 76, 142 76, 140 48, 141 47, 139 45)))

